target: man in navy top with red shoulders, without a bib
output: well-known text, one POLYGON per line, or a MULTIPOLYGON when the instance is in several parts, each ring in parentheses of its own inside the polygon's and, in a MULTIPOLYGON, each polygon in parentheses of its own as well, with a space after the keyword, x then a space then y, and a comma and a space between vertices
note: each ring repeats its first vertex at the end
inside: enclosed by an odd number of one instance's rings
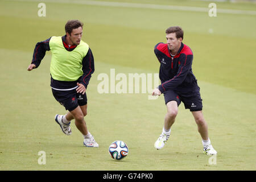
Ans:
POLYGON ((169 27, 166 30, 167 44, 158 43, 154 52, 160 63, 159 78, 161 85, 155 88, 152 95, 164 94, 167 114, 164 118, 162 134, 155 142, 155 148, 161 149, 171 134, 171 126, 175 121, 178 106, 183 102, 185 109, 189 109, 195 118, 198 131, 202 138, 203 152, 216 155, 208 138, 208 126, 202 113, 200 88, 192 72, 193 53, 182 43, 183 30, 180 27, 169 27))

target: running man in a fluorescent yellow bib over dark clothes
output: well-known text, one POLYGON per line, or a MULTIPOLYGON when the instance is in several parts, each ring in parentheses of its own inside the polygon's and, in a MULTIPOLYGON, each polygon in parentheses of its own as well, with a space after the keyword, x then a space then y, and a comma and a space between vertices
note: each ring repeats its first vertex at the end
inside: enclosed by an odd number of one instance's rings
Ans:
POLYGON ((27 70, 38 68, 46 51, 52 52, 52 94, 68 110, 65 115, 56 114, 55 121, 64 134, 71 135, 70 123, 75 119, 77 129, 84 136, 84 146, 98 147, 84 120, 87 114, 86 88, 94 72, 94 59, 88 44, 81 40, 82 26, 79 20, 69 20, 65 24, 66 35, 52 36, 37 43, 27 70))

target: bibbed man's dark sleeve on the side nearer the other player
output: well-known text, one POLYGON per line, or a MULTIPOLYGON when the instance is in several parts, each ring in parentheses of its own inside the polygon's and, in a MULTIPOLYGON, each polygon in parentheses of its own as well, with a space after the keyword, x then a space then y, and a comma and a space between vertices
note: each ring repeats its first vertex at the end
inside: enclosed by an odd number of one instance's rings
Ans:
POLYGON ((84 59, 82 59, 82 72, 84 73, 79 83, 84 85, 86 89, 89 84, 90 77, 92 77, 92 73, 94 72, 94 59, 92 50, 90 48, 84 59))

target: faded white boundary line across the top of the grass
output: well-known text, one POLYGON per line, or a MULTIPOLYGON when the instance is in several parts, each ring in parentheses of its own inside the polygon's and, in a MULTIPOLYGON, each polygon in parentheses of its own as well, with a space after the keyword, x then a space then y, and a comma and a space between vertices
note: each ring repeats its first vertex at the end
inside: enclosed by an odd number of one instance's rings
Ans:
MULTIPOLYGON (((16 0, 23 2, 52 2, 52 3, 71 3, 76 5, 93 5, 93 6, 110 6, 110 7, 132 7, 141 9, 156 9, 156 10, 175 10, 175 11, 195 11, 195 12, 207 12, 210 10, 206 7, 193 7, 193 6, 172 6, 172 5, 154 5, 144 3, 128 3, 128 2, 108 2, 108 1, 50 1, 50 0, 16 0)), ((256 15, 256 11, 253 10, 232 10, 232 9, 218 9, 217 13, 224 14, 242 14, 242 15, 256 15)))

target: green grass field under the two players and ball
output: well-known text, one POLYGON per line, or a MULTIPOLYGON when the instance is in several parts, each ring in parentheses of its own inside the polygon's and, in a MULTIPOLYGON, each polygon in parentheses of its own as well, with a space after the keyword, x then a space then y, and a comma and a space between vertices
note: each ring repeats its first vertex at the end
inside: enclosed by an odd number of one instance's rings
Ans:
MULTIPOLYGON (((110 1, 110 0, 106 0, 110 1)), ((256 15, 87 5, 83 1, 43 1, 46 17, 38 16, 41 1, 0 1, 0 170, 255 170, 256 15), (84 22, 83 40, 93 51, 95 72, 87 90, 85 121, 100 144, 82 146, 72 122, 72 135, 54 121, 65 109, 49 86, 51 53, 40 67, 27 71, 35 44, 65 34, 69 19, 84 22), (192 114, 183 104, 163 150, 154 142, 166 113, 163 96, 100 94, 100 73, 158 73, 154 46, 165 42, 169 26, 184 29, 191 47, 193 72, 199 81, 209 137, 218 151, 216 164, 202 153, 192 114), (121 161, 108 147, 123 140, 129 147, 121 161), (46 164, 38 164, 38 152, 46 164)), ((100 1, 96 1, 100 2, 100 1)), ((111 1, 208 8, 205 1, 111 1)), ((109 5, 109 4, 108 4, 109 5)), ((255 3, 216 2, 217 9, 256 11, 255 3)))

